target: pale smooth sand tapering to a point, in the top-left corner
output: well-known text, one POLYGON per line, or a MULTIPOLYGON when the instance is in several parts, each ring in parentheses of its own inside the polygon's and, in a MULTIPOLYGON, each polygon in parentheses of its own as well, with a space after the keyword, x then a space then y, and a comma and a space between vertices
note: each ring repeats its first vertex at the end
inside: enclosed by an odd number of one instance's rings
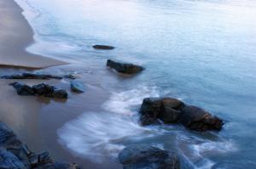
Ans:
POLYGON ((0 0, 0 66, 40 69, 67 64, 26 52, 33 42, 33 31, 21 13, 14 1, 0 0))

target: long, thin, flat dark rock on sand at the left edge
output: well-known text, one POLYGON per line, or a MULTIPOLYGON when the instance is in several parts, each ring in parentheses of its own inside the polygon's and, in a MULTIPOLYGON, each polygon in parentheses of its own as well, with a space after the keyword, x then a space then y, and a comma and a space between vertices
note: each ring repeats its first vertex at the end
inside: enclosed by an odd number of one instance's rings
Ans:
POLYGON ((52 76, 49 74, 39 74, 39 73, 22 73, 14 74, 9 76, 1 76, 3 79, 62 79, 61 76, 52 76))

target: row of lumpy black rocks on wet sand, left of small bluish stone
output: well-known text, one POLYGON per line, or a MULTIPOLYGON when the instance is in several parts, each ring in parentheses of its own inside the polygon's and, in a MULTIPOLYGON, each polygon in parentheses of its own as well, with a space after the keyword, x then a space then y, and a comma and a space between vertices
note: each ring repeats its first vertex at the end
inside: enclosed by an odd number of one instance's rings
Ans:
POLYGON ((45 83, 40 83, 32 87, 20 83, 10 83, 11 86, 15 87, 17 93, 22 96, 33 95, 33 96, 44 96, 55 99, 67 99, 67 91, 64 89, 56 88, 45 83))

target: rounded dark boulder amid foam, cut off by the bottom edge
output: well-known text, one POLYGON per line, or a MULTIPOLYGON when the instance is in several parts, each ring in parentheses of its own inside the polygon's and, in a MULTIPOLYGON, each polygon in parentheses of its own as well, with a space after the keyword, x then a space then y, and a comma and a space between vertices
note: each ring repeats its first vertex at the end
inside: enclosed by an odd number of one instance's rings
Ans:
POLYGON ((130 145, 119 153, 124 169, 179 169, 177 155, 147 144, 130 145))

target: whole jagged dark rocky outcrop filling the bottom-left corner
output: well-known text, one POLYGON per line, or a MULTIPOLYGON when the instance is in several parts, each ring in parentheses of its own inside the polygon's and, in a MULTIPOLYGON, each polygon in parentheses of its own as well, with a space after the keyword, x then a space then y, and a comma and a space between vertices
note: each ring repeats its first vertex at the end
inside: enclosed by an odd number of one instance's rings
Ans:
POLYGON ((79 169, 77 164, 53 161, 48 152, 33 153, 15 133, 0 122, 0 168, 3 169, 79 169))

